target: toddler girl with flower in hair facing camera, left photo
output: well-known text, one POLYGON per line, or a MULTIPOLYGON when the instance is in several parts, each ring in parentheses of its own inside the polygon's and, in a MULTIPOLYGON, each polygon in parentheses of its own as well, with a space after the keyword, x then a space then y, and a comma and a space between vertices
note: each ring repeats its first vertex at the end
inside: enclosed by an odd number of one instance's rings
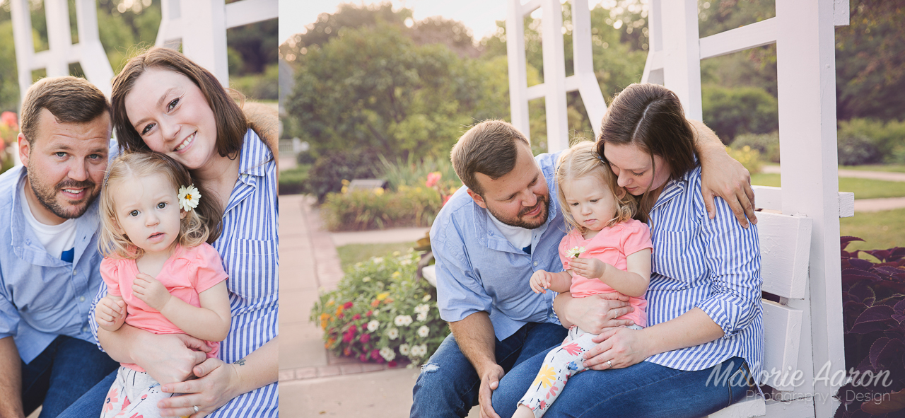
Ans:
MULTIPOLYGON (((226 272, 214 247, 222 211, 201 199, 186 169, 170 157, 126 153, 110 163, 100 195, 100 275, 107 296, 95 318, 114 332, 125 321, 157 334, 207 341, 216 357, 230 328, 226 272)), ((158 417, 172 396, 141 367, 122 364, 101 417, 158 417)))

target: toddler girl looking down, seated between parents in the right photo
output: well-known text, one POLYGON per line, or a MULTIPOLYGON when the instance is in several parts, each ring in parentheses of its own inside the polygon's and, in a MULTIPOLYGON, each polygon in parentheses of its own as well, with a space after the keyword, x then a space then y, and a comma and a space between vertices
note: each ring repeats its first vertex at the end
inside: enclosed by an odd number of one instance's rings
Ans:
MULTIPOLYGON (((559 242, 565 271, 535 271, 531 289, 571 291, 574 298, 619 292, 634 308, 620 319, 632 319, 635 325, 629 328, 646 327, 643 295, 651 277, 651 232, 632 219, 633 198, 616 185, 593 142, 579 142, 564 151, 557 167, 557 198, 570 229, 559 242)), ((569 328, 563 344, 548 353, 513 417, 542 416, 567 379, 585 370, 582 353, 597 345, 593 337, 575 326, 569 328)))

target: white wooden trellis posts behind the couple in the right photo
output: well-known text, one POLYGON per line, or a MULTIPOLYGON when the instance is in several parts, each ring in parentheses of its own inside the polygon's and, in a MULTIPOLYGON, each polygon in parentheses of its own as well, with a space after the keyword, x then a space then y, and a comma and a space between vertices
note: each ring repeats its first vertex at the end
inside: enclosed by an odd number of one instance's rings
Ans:
POLYGON ((562 37, 562 5, 558 0, 531 0, 521 5, 510 0, 506 19, 506 52, 509 59, 510 109, 512 125, 530 139, 528 102, 545 99, 547 112, 547 148, 555 152, 568 147, 566 93, 578 91, 595 134, 606 111, 604 95, 594 74, 591 54, 591 17, 587 0, 572 0, 572 51, 575 74, 566 77, 565 46, 562 37), (544 82, 528 87, 525 62, 525 16, 542 8, 544 82))

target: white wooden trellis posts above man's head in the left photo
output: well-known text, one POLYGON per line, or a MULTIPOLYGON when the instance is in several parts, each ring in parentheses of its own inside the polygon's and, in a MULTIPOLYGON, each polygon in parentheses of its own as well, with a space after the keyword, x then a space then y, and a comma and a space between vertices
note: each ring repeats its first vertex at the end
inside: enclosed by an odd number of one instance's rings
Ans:
POLYGON ((47 38, 50 48, 34 52, 29 0, 11 0, 16 66, 19 90, 24 95, 32 85, 32 71, 46 69, 48 77, 69 75, 69 64, 79 62, 85 77, 107 96, 113 68, 100 45, 98 10, 94 0, 76 0, 75 14, 79 27, 79 43, 72 43, 69 6, 66 0, 45 0, 47 38))

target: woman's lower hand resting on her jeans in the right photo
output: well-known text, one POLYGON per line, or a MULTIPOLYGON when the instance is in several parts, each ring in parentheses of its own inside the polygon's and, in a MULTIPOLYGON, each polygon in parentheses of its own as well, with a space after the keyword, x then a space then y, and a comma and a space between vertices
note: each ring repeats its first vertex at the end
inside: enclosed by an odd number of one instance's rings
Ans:
POLYGON ((610 328, 600 335, 591 338, 597 344, 582 355, 585 357, 585 366, 595 370, 608 368, 624 368, 641 363, 645 358, 652 356, 647 347, 647 333, 643 329, 610 328), (610 363, 607 363, 609 361, 610 363))

